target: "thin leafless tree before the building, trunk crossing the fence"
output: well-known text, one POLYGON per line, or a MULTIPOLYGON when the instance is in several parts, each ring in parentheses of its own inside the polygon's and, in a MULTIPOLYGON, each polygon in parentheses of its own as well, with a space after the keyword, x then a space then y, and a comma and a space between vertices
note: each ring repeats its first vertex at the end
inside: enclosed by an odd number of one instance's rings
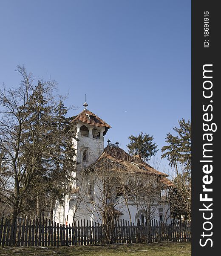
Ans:
POLYGON ((113 241, 116 221, 122 215, 120 209, 123 202, 117 200, 121 167, 116 168, 116 165, 119 164, 101 157, 99 163, 85 170, 88 180, 88 196, 85 203, 93 218, 102 222, 108 243, 113 241))

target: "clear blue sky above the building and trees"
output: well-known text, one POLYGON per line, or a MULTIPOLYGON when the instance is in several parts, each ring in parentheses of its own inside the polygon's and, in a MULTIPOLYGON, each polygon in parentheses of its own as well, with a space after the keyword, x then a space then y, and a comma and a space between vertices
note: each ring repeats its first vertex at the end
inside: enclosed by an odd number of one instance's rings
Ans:
POLYGON ((20 83, 18 64, 57 80, 70 116, 87 93, 105 141, 127 150, 143 131, 161 148, 191 118, 191 1, 0 0, 0 83, 20 83))

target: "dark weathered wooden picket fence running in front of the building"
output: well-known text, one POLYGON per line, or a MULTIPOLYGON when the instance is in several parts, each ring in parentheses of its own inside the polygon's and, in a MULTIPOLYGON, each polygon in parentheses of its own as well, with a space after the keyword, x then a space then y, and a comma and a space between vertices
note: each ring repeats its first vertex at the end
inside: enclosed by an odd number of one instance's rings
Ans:
MULTIPOLYGON (((152 243, 164 240, 184 242, 191 240, 191 224, 177 222, 172 225, 129 225, 128 221, 119 221, 111 240, 114 243, 152 243)), ((23 220, 11 224, 11 220, 2 218, 0 222, 0 247, 5 246, 71 246, 107 243, 105 227, 81 220, 72 225, 59 225, 44 220, 23 220)))

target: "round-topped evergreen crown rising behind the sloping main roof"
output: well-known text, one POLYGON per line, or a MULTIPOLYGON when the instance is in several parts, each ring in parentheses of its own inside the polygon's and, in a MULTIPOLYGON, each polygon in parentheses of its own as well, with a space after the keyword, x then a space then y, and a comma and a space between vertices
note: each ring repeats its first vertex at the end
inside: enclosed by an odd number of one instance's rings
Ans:
POLYGON ((153 136, 149 134, 141 132, 138 136, 131 135, 128 139, 130 140, 130 143, 127 145, 129 154, 139 155, 144 161, 150 160, 158 151, 156 149, 158 145, 153 143, 153 136))

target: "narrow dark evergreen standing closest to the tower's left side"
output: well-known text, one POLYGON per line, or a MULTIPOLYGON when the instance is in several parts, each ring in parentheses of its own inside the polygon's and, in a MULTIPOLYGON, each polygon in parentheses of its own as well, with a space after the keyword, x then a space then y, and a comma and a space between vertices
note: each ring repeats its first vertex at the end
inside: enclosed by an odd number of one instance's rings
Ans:
POLYGON ((71 118, 65 117, 67 112, 67 107, 60 101, 52 119, 53 152, 48 161, 53 169, 51 169, 47 182, 50 194, 50 218, 52 218, 55 200, 63 201, 65 192, 68 192, 68 184, 73 178, 71 174, 75 171, 73 160, 75 151, 72 147, 74 136, 71 131, 71 118), (53 137, 54 130, 59 134, 56 138, 53 137))

